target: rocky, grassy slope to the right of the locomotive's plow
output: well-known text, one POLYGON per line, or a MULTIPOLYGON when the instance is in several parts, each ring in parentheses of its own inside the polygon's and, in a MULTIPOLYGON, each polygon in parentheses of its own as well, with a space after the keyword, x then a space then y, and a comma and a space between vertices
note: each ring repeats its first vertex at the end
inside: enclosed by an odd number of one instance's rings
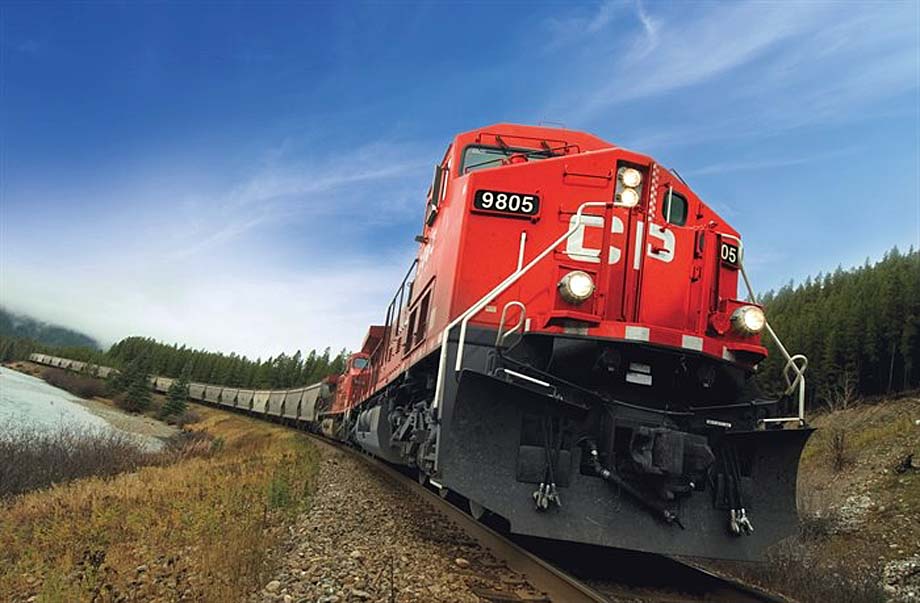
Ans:
POLYGON ((920 392, 811 419, 800 534, 765 564, 718 564, 799 601, 920 601, 920 392))

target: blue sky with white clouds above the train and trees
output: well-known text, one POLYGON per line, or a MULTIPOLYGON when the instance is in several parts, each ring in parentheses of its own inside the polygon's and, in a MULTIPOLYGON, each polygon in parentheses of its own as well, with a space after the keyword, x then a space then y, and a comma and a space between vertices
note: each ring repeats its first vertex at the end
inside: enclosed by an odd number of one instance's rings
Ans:
POLYGON ((675 168, 759 290, 920 246, 920 3, 0 3, 0 304, 358 347, 497 122, 675 168))

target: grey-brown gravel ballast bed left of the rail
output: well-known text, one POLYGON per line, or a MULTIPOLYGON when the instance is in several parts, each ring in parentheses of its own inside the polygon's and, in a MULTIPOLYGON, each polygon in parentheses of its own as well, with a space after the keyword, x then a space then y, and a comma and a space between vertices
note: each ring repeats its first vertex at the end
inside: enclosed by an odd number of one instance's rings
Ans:
POLYGON ((310 509, 251 603, 546 600, 404 485, 335 448, 321 455, 310 509))

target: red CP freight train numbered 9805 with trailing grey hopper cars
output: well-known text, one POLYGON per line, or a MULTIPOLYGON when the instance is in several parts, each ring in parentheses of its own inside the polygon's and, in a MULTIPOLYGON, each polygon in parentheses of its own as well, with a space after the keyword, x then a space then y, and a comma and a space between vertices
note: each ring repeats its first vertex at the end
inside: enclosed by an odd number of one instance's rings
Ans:
POLYGON ((465 132, 416 241, 344 374, 191 397, 351 442, 514 534, 757 559, 796 529, 807 360, 676 171, 572 130, 465 132), (762 333, 786 360, 778 398, 754 379, 762 333))

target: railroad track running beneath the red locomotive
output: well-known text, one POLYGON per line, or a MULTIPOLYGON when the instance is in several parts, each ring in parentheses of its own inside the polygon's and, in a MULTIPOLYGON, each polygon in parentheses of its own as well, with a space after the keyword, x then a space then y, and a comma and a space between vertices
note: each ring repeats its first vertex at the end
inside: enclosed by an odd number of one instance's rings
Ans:
MULTIPOLYGON (((302 430, 298 430, 302 431, 302 430)), ((626 567, 620 551, 568 547, 559 543, 516 542, 477 521, 432 490, 396 468, 354 448, 307 433, 320 446, 328 446, 366 463, 413 492, 418 498, 443 513, 469 538, 480 543, 510 569, 524 576, 553 603, 789 603, 788 599, 766 593, 753 586, 719 576, 689 563, 661 555, 629 555, 626 567), (620 572, 605 568, 621 568, 620 572), (576 576, 575 573, 579 575, 576 576), (609 574, 614 573, 614 577, 609 574), (632 574, 627 578, 626 574, 632 574), (636 581, 636 576, 645 580, 636 581), (657 584, 655 583, 657 580, 657 584)), ((531 601, 508 592, 474 591, 494 603, 531 601)))

